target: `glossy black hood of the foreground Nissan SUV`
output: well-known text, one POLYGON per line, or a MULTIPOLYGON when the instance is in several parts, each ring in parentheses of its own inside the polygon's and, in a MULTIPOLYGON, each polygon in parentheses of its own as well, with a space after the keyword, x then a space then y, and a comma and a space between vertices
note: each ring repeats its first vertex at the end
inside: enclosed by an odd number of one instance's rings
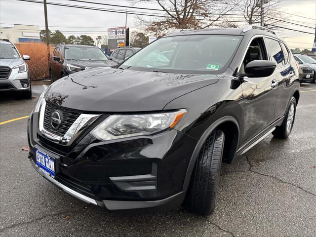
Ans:
POLYGON ((57 80, 45 99, 58 106, 91 112, 159 111, 171 100, 218 79, 216 75, 90 69, 57 80))

